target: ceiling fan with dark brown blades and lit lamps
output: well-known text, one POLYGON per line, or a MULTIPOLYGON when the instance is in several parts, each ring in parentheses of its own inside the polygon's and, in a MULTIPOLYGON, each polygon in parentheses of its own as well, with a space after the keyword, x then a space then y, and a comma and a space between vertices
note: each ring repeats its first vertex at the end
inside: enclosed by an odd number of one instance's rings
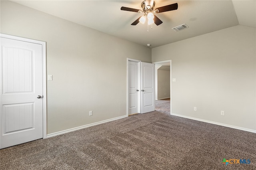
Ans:
POLYGON ((148 18, 148 25, 155 23, 157 26, 162 24, 163 22, 153 14, 154 13, 160 13, 160 12, 167 12, 167 11, 172 11, 172 10, 177 10, 178 9, 178 3, 175 4, 170 4, 162 7, 156 8, 154 10, 155 6, 155 1, 154 0, 144 0, 141 3, 142 10, 134 9, 134 8, 128 8, 128 7, 121 7, 121 10, 124 11, 131 11, 131 12, 144 12, 144 15, 139 17, 137 20, 135 20, 131 25, 135 26, 139 22, 144 24, 146 22, 146 19, 148 18))

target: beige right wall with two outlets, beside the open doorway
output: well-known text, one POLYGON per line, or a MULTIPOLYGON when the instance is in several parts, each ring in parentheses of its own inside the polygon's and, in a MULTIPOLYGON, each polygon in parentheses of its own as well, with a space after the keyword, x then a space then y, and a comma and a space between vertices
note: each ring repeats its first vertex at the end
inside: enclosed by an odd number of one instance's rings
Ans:
POLYGON ((172 113, 256 130, 255 28, 234 26, 152 49, 152 62, 170 59, 172 113))

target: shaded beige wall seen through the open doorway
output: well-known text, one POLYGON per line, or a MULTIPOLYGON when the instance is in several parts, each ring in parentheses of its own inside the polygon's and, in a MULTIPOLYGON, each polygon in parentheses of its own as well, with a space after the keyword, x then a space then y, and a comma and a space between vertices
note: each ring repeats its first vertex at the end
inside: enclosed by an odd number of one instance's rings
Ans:
POLYGON ((157 99, 170 98, 170 71, 157 70, 157 99))

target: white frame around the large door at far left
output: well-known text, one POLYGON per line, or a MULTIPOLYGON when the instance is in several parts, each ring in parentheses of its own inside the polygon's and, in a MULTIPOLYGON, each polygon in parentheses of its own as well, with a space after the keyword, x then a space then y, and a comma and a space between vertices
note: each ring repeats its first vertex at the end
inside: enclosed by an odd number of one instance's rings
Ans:
MULTIPOLYGON (((30 42, 30 43, 37 43, 42 45, 42 82, 43 82, 43 138, 46 138, 47 135, 47 107, 46 107, 46 42, 42 42, 42 41, 38 41, 38 40, 31 40, 28 38, 22 38, 22 37, 17 37, 17 36, 11 36, 8 34, 2 34, 0 33, 0 37, 2 38, 8 38, 8 39, 12 39, 12 40, 19 40, 19 41, 24 41, 24 42, 30 42)), ((2 72, 2 71, 1 71, 2 72)), ((2 79, 2 75, 0 75, 1 79, 2 79)), ((2 86, 2 84, 0 84, 0 86, 2 86)), ((0 120, 1 121, 1 120, 0 120)))

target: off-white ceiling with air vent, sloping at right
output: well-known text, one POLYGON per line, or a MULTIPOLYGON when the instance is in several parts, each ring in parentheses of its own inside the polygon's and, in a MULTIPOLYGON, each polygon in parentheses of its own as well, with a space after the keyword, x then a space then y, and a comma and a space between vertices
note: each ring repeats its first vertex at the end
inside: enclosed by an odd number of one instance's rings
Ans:
POLYGON ((147 28, 132 26, 142 13, 122 11, 122 6, 141 9, 143 0, 12 0, 18 4, 81 24, 106 34, 150 47, 177 42, 224 28, 244 25, 256 28, 256 0, 155 0, 155 8, 178 3, 178 10, 158 13, 163 21, 147 28), (175 32, 173 27, 189 28, 175 32))

